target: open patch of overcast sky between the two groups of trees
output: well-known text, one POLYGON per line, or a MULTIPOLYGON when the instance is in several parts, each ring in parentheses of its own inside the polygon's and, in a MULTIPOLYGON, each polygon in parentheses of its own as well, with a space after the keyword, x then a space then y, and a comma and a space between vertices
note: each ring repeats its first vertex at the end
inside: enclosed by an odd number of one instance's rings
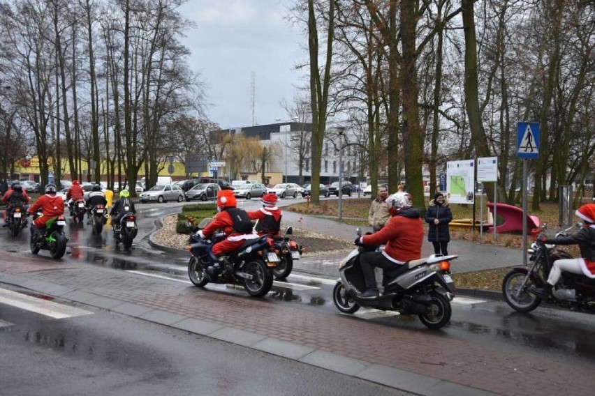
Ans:
POLYGON ((251 72, 256 125, 288 119, 279 102, 293 102, 304 84, 295 66, 307 58, 300 27, 286 21, 293 0, 189 0, 182 15, 198 26, 182 43, 190 65, 207 84, 211 121, 221 128, 252 125, 251 72))

